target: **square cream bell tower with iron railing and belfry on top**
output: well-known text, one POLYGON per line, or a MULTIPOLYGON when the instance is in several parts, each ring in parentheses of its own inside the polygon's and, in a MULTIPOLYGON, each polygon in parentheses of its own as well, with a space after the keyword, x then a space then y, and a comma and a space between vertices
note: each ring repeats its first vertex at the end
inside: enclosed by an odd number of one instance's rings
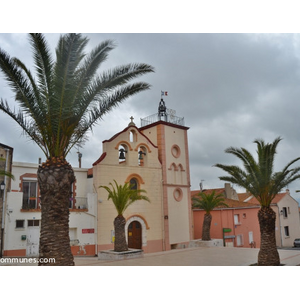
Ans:
POLYGON ((192 239, 188 129, 163 98, 157 114, 141 119, 140 131, 157 145, 162 164, 164 250, 187 247, 192 239))

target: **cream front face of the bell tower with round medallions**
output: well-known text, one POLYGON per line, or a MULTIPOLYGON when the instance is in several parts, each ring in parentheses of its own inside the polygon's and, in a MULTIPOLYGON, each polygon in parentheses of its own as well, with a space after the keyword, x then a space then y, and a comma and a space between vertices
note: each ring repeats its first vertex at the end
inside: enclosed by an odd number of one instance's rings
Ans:
POLYGON ((192 238, 189 153, 187 128, 161 124, 162 162, 166 170, 169 243, 186 243, 192 238), (165 156, 165 157, 164 157, 165 156))

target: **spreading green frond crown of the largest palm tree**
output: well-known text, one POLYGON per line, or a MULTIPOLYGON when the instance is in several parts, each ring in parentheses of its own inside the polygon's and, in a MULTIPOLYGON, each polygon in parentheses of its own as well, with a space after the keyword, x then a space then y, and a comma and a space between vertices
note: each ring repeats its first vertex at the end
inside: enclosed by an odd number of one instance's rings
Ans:
POLYGON ((150 87, 143 82, 130 84, 154 71, 147 64, 128 64, 97 74, 115 47, 110 40, 85 54, 86 37, 62 35, 54 61, 42 34, 29 37, 37 80, 19 59, 0 49, 0 70, 15 93, 20 113, 3 100, 0 109, 17 121, 47 158, 65 157, 74 145, 85 141, 87 131, 112 108, 150 87))

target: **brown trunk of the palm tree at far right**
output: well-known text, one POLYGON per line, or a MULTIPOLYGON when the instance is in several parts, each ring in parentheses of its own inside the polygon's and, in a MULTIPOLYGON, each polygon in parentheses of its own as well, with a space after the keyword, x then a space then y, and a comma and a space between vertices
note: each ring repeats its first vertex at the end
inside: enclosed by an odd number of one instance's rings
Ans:
POLYGON ((260 251, 258 253, 259 266, 279 266, 280 258, 275 239, 276 214, 270 207, 262 207, 258 211, 260 226, 260 251))

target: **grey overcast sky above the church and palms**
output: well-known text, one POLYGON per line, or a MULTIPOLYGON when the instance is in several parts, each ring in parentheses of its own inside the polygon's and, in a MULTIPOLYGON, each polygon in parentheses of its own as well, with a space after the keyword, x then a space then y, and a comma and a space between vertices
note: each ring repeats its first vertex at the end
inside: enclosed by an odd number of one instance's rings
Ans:
MULTIPOLYGON (((224 182, 216 163, 240 164, 228 147, 245 147, 255 155, 255 139, 266 142, 280 136, 275 170, 281 170, 300 154, 300 35, 250 33, 83 33, 90 51, 112 39, 116 48, 101 70, 143 62, 155 73, 140 77, 151 85, 113 109, 89 132, 80 149, 82 167, 90 168, 102 153, 102 141, 123 130, 134 117, 157 112, 161 91, 167 108, 184 117, 189 127, 191 189, 219 188, 224 182)), ((45 34, 54 50, 59 34, 45 34)), ((25 33, 0 34, 0 47, 32 69, 31 49, 25 33)), ((0 97, 18 108, 12 92, 0 75, 0 97)), ((37 163, 42 151, 9 116, 0 112, 0 142, 14 148, 14 160, 37 163), (5 128, 5 129, 4 129, 5 128)), ((67 159, 78 166, 77 150, 67 159)), ((297 164, 295 164, 296 166, 297 164)), ((300 165, 300 163, 298 163, 300 165)), ((237 191, 243 189, 234 186, 237 191)), ((300 181, 288 187, 298 199, 300 181)))

